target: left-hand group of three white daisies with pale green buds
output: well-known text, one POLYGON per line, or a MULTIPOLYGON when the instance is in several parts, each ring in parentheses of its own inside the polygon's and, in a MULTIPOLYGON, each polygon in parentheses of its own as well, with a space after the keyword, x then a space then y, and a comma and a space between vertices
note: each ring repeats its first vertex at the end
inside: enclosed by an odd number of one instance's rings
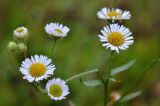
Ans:
MULTIPOLYGON (((50 23, 45 26, 46 33, 52 38, 66 37, 69 28, 59 23, 50 23)), ((23 79, 33 83, 36 88, 40 88, 41 93, 48 94, 53 100, 62 100, 69 94, 69 88, 66 82, 60 78, 52 78, 56 70, 52 59, 45 55, 33 55, 27 57, 27 38, 28 29, 26 27, 19 27, 14 30, 14 40, 8 44, 8 50, 12 52, 23 52, 24 60, 20 66, 20 72, 23 74, 23 79), (52 79, 49 79, 49 78, 52 79), (41 80, 48 80, 46 88, 40 86, 41 80)))

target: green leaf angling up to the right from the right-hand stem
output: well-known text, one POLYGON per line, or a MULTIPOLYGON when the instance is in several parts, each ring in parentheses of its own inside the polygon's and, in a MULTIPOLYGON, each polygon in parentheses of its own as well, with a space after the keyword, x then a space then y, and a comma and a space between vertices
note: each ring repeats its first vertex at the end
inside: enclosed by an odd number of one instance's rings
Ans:
POLYGON ((128 63, 126 63, 125 65, 122 65, 120 67, 117 67, 115 69, 112 69, 111 70, 111 76, 114 76, 120 72, 123 72, 125 70, 127 70, 128 68, 130 68, 134 63, 136 62, 136 60, 132 60, 132 61, 129 61, 128 63))

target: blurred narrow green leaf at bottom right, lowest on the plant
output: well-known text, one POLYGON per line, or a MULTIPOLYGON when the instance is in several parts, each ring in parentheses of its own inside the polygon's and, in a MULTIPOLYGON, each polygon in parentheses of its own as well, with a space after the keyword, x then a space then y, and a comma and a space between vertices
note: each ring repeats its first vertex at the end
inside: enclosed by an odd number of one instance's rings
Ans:
POLYGON ((133 93, 127 94, 120 100, 120 102, 130 101, 130 100, 138 97, 141 93, 142 93, 141 91, 137 91, 137 92, 133 92, 133 93))

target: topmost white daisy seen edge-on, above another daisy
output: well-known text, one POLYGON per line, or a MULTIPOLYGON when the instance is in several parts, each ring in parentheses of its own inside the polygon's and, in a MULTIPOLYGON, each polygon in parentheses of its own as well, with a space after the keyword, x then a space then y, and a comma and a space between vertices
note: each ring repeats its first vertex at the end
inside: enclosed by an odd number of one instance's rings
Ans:
POLYGON ((108 19, 112 20, 128 20, 131 18, 130 11, 123 11, 121 9, 109 9, 109 8, 102 8, 100 11, 97 12, 97 16, 100 19, 108 19))

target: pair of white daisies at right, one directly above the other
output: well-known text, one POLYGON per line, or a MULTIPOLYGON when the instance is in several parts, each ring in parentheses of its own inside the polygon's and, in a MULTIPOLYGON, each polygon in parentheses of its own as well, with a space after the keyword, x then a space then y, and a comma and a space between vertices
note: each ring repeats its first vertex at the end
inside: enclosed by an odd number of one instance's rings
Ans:
POLYGON ((100 19, 108 19, 112 21, 110 25, 106 25, 101 30, 102 35, 98 35, 106 49, 109 48, 111 51, 119 53, 119 50, 125 50, 133 44, 133 36, 131 36, 132 32, 130 32, 125 26, 117 23, 118 21, 130 19, 131 14, 129 11, 102 8, 97 12, 97 16, 100 19))

